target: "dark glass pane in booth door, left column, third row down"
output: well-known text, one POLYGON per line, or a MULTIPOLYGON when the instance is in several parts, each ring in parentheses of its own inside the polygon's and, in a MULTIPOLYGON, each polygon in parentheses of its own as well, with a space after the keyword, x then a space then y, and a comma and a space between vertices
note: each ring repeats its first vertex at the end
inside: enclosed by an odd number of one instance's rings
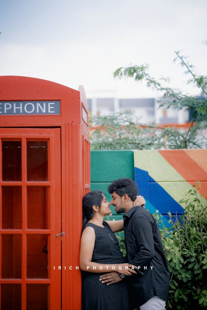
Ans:
POLYGON ((21 279, 21 235, 2 234, 2 279, 21 279))

